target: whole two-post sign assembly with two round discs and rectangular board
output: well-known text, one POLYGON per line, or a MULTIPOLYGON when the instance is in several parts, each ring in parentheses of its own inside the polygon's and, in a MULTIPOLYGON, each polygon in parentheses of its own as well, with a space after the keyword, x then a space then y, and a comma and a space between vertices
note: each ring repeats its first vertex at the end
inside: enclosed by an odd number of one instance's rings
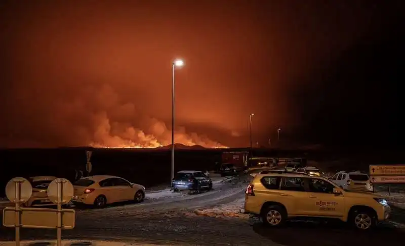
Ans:
POLYGON ((20 246, 20 228, 56 228, 57 245, 61 246, 62 229, 73 229, 75 211, 62 209, 73 196, 73 185, 67 179, 57 178, 48 186, 48 197, 57 209, 21 208, 32 195, 32 186, 25 178, 17 177, 6 186, 7 198, 15 203, 15 208, 3 210, 3 225, 16 228, 15 245, 20 246))

